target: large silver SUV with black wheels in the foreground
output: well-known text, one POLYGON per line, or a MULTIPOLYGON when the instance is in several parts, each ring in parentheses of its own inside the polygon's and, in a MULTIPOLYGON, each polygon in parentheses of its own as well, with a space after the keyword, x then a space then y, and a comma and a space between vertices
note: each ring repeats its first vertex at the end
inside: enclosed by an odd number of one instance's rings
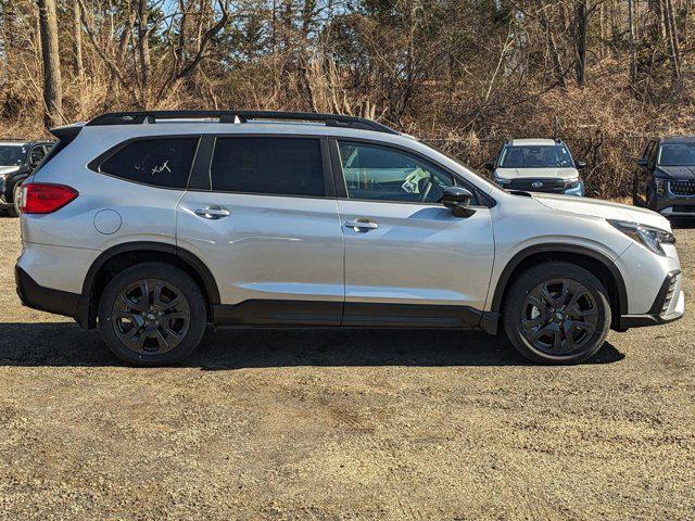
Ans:
POLYGON ((567 364, 683 315, 664 217, 505 191, 375 122, 117 113, 53 134, 23 188, 17 292, 131 364, 180 359, 208 322, 504 328, 567 364))

